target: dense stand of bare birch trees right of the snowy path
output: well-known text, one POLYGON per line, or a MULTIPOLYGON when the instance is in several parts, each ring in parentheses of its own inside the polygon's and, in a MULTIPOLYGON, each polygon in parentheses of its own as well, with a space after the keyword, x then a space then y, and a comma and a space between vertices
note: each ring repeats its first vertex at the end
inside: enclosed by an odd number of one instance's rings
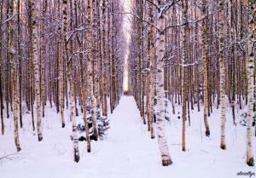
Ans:
POLYGON ((230 119, 226 118, 226 107, 231 108, 235 126, 236 108, 247 108, 247 164, 253 165, 255 1, 138 0, 133 6, 130 91, 151 138, 155 115, 162 164, 172 164, 164 134, 170 100, 173 113, 177 104, 182 105, 183 151, 190 110, 200 112, 203 103, 209 136, 208 117, 214 106, 221 108, 220 147, 226 149, 225 122, 230 119))

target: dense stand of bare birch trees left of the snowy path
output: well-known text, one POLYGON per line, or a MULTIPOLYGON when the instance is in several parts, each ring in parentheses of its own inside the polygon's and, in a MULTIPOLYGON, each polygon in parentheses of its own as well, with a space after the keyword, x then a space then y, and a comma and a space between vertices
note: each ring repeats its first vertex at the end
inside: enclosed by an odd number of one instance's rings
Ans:
POLYGON ((18 152, 22 107, 31 113, 31 127, 42 141, 46 105, 60 112, 63 128, 68 121, 64 110, 69 108, 76 162, 76 116, 83 114, 90 152, 88 115, 97 140, 96 119, 108 117, 108 103, 113 112, 122 92, 125 37, 119 11, 116 0, 0 1, 1 129, 4 135, 13 112, 18 152))

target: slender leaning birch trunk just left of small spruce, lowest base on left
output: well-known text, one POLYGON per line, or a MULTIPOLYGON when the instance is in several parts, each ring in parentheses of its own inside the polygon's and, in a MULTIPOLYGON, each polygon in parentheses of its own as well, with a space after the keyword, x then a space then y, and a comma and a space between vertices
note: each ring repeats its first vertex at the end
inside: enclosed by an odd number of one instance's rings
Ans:
MULTIPOLYGON (((68 80, 68 91, 69 91, 69 106, 71 109, 70 118, 72 121, 72 136, 73 136, 73 154, 74 154, 74 161, 79 162, 79 137, 77 132, 77 123, 76 123, 76 109, 75 109, 75 102, 73 98, 73 81, 72 81, 72 61, 69 60, 68 57, 68 50, 67 50, 67 0, 63 0, 63 36, 64 36, 64 44, 65 44, 65 53, 67 58, 67 80, 68 80)), ((85 111, 84 111, 85 112, 85 111)))

